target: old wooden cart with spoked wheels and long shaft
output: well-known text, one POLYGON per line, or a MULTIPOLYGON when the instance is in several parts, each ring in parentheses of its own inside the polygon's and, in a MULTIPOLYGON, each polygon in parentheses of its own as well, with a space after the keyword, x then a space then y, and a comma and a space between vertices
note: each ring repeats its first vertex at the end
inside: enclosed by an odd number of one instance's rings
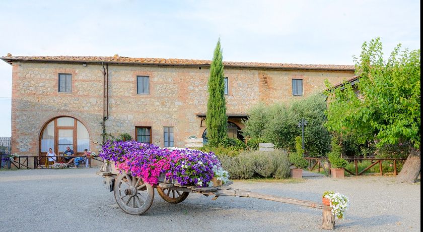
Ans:
POLYGON ((251 197, 322 209, 322 228, 334 229, 335 225, 335 218, 331 213, 330 206, 311 201, 233 189, 230 187, 233 184, 232 181, 217 187, 199 188, 196 186, 182 186, 177 183, 167 183, 168 181, 165 181, 164 176, 161 176, 157 185, 150 185, 144 183, 142 179, 130 175, 130 173, 120 173, 116 170, 114 164, 108 164, 106 162, 101 166, 100 171, 97 171, 97 175, 105 179, 103 181, 105 188, 114 193, 119 207, 125 213, 132 215, 140 215, 149 210, 153 204, 154 189, 156 189, 163 200, 173 204, 184 201, 190 193, 199 193, 205 196, 213 196, 212 200, 216 200, 220 196, 251 197))

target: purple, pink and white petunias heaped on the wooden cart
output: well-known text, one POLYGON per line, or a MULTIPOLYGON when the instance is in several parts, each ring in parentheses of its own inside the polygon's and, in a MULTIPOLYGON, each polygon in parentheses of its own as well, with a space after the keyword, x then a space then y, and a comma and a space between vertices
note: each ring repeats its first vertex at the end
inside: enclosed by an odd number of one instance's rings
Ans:
POLYGON ((113 141, 103 145, 99 156, 114 162, 119 171, 131 173, 150 185, 160 177, 180 185, 212 187, 225 184, 229 174, 213 153, 179 148, 160 148, 136 141, 113 141))

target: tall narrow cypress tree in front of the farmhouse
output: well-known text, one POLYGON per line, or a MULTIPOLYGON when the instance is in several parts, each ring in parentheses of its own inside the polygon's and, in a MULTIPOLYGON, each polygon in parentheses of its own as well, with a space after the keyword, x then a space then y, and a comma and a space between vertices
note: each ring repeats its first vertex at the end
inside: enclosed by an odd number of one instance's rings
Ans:
POLYGON ((207 101, 207 140, 210 146, 221 144, 227 134, 228 118, 226 116, 225 80, 222 63, 222 48, 220 38, 216 44, 213 61, 210 64, 210 76, 208 77, 208 101, 207 101))

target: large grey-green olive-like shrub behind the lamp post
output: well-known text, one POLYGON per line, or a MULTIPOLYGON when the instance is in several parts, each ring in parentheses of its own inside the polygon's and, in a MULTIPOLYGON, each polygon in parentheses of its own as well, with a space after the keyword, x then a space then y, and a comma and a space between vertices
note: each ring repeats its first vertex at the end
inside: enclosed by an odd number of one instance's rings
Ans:
POLYGON ((304 118, 308 125, 304 128, 304 146, 310 156, 325 155, 329 151, 330 135, 323 126, 325 121, 326 98, 314 94, 289 105, 259 103, 248 112, 244 121, 244 136, 264 139, 275 147, 294 150, 295 137, 301 135, 298 123, 304 118))

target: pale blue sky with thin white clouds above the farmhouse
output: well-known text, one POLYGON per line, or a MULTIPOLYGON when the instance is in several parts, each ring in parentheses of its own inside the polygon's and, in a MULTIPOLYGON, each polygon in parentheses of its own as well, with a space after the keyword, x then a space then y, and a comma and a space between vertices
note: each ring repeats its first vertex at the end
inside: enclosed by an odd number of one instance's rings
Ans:
MULTIPOLYGON (((353 65, 381 37, 420 48, 419 1, 6 1, 0 55, 207 59, 353 65), (153 3, 156 2, 156 3, 153 3), (229 2, 229 3, 226 3, 229 2)), ((0 136, 11 134, 12 67, 0 63, 0 136)))

